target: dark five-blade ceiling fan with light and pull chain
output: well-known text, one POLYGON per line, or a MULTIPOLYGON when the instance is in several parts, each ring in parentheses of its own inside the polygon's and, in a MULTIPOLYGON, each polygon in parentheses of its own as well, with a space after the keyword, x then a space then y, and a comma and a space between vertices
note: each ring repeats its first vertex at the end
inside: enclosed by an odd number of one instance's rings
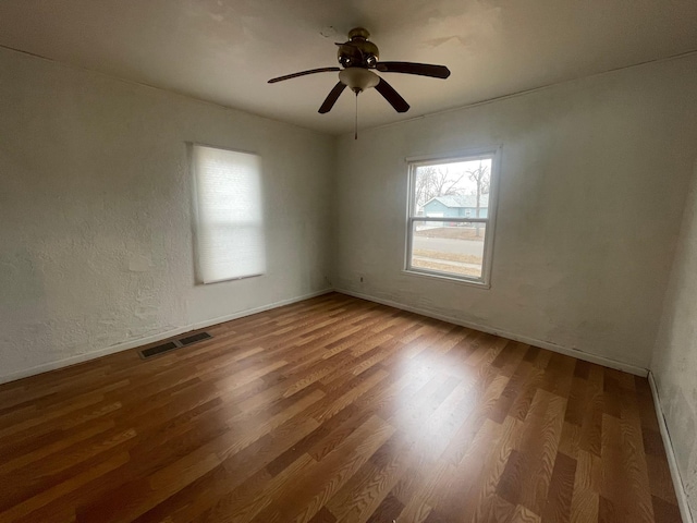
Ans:
POLYGON ((447 78, 450 76, 450 71, 444 65, 414 62, 380 62, 378 46, 369 41, 369 37, 370 33, 366 29, 355 27, 348 32, 347 41, 337 44, 337 46, 339 46, 339 52, 337 54, 341 68, 319 68, 301 71, 299 73, 271 78, 269 80, 269 84, 305 76, 307 74, 339 72, 339 82, 319 108, 320 113, 325 114, 329 112, 346 87, 350 87, 351 90, 356 94, 356 97, 359 93, 375 87, 395 111, 406 112, 409 110, 409 105, 406 100, 402 98, 384 78, 378 76, 371 70, 377 70, 381 73, 418 74, 433 78, 447 78))

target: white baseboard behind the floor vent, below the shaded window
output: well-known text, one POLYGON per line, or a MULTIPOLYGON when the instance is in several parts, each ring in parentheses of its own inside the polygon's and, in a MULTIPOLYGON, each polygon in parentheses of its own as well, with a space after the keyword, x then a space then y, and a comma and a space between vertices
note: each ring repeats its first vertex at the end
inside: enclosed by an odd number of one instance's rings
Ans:
POLYGON ((185 325, 182 327, 178 327, 176 329, 159 332, 152 336, 147 336, 145 338, 138 338, 137 340, 129 340, 123 343, 118 343, 115 345, 107 346, 105 349, 99 349, 85 354, 77 354, 75 356, 66 357, 63 360, 57 360, 54 362, 44 363, 35 367, 30 367, 24 370, 19 370, 16 373, 0 376, 0 385, 8 384, 10 381, 15 381, 22 378, 27 378, 29 376, 35 376, 37 374, 48 373, 49 370, 56 370, 58 368, 63 368, 71 365, 76 365, 78 363, 88 362, 90 360, 96 360, 98 357, 108 356, 109 354, 114 354, 117 352, 127 351, 131 349, 135 349, 136 346, 147 345, 148 343, 156 343, 158 341, 167 340, 168 338, 172 338, 174 336, 179 336, 184 332, 205 329, 206 327, 210 327, 212 325, 224 324, 225 321, 231 321, 233 319, 243 318, 245 316, 252 316, 253 314, 264 313, 265 311, 270 311, 272 308, 282 307, 283 305, 290 305, 292 303, 302 302, 303 300, 309 300, 310 297, 320 296, 329 292, 333 292, 333 289, 323 289, 321 291, 311 292, 309 294, 303 294, 302 296, 291 297, 289 300, 282 300, 280 302, 273 302, 268 305, 262 305, 260 307, 248 308, 248 309, 240 311, 225 316, 219 316, 217 318, 207 319, 205 321, 198 321, 196 324, 185 325))

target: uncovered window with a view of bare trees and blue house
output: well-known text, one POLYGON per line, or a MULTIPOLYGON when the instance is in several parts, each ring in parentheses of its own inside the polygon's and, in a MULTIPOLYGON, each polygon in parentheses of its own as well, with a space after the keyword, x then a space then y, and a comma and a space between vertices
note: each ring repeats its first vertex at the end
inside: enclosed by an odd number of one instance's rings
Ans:
POLYGON ((406 271, 489 284, 498 151, 408 160, 406 271))

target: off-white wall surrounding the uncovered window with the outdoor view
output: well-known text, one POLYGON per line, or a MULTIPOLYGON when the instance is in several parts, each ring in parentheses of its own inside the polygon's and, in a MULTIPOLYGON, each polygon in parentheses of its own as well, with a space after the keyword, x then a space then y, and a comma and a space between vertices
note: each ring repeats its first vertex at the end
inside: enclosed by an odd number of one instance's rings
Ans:
POLYGON ((342 137, 335 287, 648 367, 696 85, 692 56, 342 137), (405 157, 500 144, 491 289, 403 273, 405 157))

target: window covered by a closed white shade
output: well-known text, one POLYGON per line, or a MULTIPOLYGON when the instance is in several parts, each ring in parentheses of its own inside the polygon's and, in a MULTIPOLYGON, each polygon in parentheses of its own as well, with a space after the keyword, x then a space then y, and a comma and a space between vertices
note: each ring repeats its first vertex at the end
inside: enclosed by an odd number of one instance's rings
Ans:
POLYGON ((196 272, 203 283, 266 271, 257 155, 193 146, 196 272))

